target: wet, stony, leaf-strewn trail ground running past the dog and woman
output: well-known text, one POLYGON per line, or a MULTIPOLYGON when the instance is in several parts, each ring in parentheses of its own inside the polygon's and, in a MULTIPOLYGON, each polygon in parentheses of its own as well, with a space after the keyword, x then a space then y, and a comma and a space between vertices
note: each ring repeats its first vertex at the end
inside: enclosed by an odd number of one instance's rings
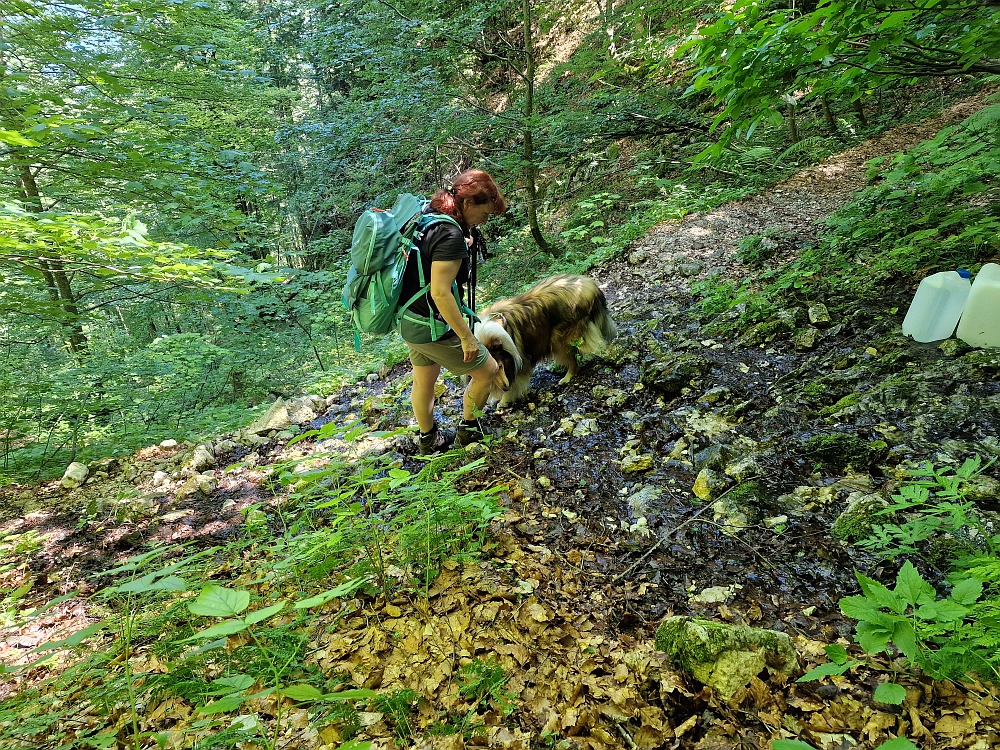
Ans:
MULTIPOLYGON (((517 672, 523 716, 492 732, 491 742, 535 747, 562 732, 579 747, 763 748, 783 731, 819 747, 875 747, 897 734, 926 747, 1000 743, 992 688, 904 678, 904 706, 873 707, 884 679, 877 671, 799 685, 774 673, 720 701, 651 645, 664 618, 699 615, 787 634, 802 667, 825 661, 824 644, 853 642, 854 623, 838 600, 858 593, 855 569, 887 582, 896 573, 849 544, 850 533, 834 534, 838 518, 882 502, 921 461, 1000 457, 1000 352, 904 338, 905 299, 839 318, 817 299, 736 340, 706 332, 690 314, 693 282, 753 273, 736 257, 744 238, 772 229, 792 257, 863 186, 867 159, 919 142, 980 105, 960 103, 764 195, 657 227, 627 257, 594 269, 619 339, 567 386, 539 368, 527 402, 488 413, 505 437, 473 452, 487 469, 469 481, 507 488, 497 559, 511 566, 508 583, 527 585, 541 607, 525 617, 486 588, 469 594, 470 607, 507 607, 517 634, 500 639, 497 653, 517 672), (893 306, 900 312, 888 313, 893 306), (578 687, 545 694, 543 672, 578 687)), ((439 411, 449 422, 461 386, 445 383, 439 411)), ((296 430, 286 426, 355 418, 406 426, 407 388, 408 368, 398 365, 327 399, 279 405, 200 458, 190 446, 167 444, 91 467, 89 481, 71 492, 9 489, 0 533, 44 535, 19 575, 85 592, 85 573, 142 544, 229 538, 248 508, 280 502, 280 490, 264 481, 270 465, 336 449, 331 441, 287 446, 296 430)), ((360 446, 418 470, 414 448, 398 435, 360 446)), ((1000 510, 995 477, 988 471, 976 489, 988 516, 1000 510)), ((78 601, 61 607, 48 626, 10 635, 0 656, 14 662, 52 629, 87 621, 78 601)), ((435 616, 455 611, 452 601, 435 616)), ((327 649, 330 663, 360 670, 357 650, 338 643, 327 649)))

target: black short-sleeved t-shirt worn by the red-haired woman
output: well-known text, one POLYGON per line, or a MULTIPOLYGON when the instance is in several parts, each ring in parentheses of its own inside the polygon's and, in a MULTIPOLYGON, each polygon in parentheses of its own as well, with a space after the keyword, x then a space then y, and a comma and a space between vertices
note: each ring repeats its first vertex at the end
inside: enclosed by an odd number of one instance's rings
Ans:
MULTIPOLYGON (((425 284, 431 283, 431 263, 436 260, 461 259, 462 266, 459 268, 458 276, 455 279, 458 282, 458 293, 459 297, 461 297, 464 285, 469 281, 469 245, 462 235, 462 230, 449 221, 440 221, 432 224, 423 233, 422 237, 416 239, 416 245, 420 249, 420 262, 424 268, 425 284)), ((419 270, 413 256, 411 256, 410 262, 407 263, 406 271, 403 274, 403 291, 399 295, 400 304, 405 303, 418 291, 420 291, 419 270)), ((418 297, 410 305, 407 309, 407 315, 413 315, 426 320, 431 309, 434 310, 434 317, 441 321, 442 326, 447 326, 444 318, 438 312, 434 300, 431 299, 429 289, 426 294, 418 297)), ((399 332, 403 337, 403 341, 409 341, 411 344, 427 344, 434 340, 431 336, 430 327, 414 323, 405 318, 400 323, 399 332)))

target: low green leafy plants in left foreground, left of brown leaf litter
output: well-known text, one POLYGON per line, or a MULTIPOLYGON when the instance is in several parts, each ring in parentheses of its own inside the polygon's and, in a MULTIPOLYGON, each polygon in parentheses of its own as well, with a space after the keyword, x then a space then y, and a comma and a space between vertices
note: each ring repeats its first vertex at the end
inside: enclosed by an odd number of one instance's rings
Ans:
MULTIPOLYGON (((360 423, 331 423, 296 441, 359 446, 372 435, 360 423)), ((498 490, 464 486, 482 466, 446 454, 409 472, 388 454, 356 449, 276 466, 271 481, 282 502, 248 509, 229 543, 151 546, 91 578, 85 607, 93 622, 33 649, 33 664, 4 667, 38 678, 0 703, 0 744, 273 750, 288 728, 286 704, 308 708, 311 726, 335 726, 345 748, 369 706, 387 711, 406 736, 411 697, 325 673, 310 644, 361 601, 420 598, 442 563, 478 559, 500 513, 498 490), (172 728, 148 719, 174 705, 192 713, 172 728)), ((9 626, 30 626, 74 596, 27 606, 30 590, 6 593, 9 626)), ((467 682, 474 698, 506 699, 491 665, 467 682)))

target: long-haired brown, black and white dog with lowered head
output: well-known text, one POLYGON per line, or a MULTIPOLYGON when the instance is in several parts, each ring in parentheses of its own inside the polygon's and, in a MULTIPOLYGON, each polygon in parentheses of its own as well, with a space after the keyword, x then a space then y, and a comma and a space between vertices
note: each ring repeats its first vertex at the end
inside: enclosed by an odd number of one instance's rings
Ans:
POLYGON ((494 302, 480 314, 476 338, 500 365, 490 387, 490 402, 507 406, 522 398, 540 362, 566 368, 559 381, 576 375, 577 352, 598 354, 618 335, 608 301, 589 276, 559 274, 539 281, 524 294, 494 302))

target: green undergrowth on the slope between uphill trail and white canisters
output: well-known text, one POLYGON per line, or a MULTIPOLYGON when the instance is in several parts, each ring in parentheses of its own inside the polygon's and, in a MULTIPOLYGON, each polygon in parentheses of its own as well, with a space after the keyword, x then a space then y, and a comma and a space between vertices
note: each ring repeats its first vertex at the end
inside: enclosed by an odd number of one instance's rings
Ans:
POLYGON ((869 187, 794 260, 771 262, 773 244, 785 238, 747 238, 740 255, 759 272, 695 284, 701 319, 718 333, 815 301, 841 313, 892 307, 930 273, 977 271, 1000 250, 1000 103, 992 101, 905 153, 872 160, 869 187))

